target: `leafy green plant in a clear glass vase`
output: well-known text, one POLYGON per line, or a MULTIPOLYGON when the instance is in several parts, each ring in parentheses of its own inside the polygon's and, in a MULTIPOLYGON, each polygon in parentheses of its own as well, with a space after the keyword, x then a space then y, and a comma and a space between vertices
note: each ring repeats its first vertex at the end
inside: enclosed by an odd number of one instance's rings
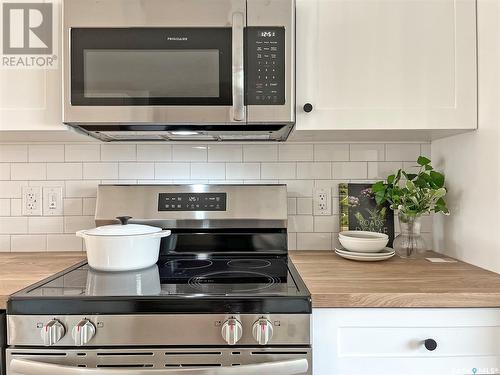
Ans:
POLYGON ((398 211, 401 234, 394 239, 393 247, 403 258, 413 258, 427 250, 420 235, 422 215, 431 212, 449 215, 444 200, 444 175, 435 171, 424 156, 419 156, 417 164, 418 173, 399 169, 372 186, 378 204, 387 201, 391 209, 398 211))

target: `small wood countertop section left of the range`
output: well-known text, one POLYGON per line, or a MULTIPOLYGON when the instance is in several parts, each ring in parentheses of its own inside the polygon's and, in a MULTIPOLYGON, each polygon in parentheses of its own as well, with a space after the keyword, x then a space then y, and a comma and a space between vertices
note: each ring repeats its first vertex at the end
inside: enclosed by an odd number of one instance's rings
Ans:
POLYGON ((74 252, 0 253, 0 310, 9 295, 85 259, 74 252))

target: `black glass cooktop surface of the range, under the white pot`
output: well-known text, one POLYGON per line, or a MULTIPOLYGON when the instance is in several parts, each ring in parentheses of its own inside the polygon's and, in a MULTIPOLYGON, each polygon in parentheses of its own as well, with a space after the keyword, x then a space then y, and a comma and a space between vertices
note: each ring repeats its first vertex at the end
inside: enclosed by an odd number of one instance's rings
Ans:
POLYGON ((25 291, 25 296, 294 296, 286 257, 160 259, 129 272, 101 272, 87 264, 25 291))

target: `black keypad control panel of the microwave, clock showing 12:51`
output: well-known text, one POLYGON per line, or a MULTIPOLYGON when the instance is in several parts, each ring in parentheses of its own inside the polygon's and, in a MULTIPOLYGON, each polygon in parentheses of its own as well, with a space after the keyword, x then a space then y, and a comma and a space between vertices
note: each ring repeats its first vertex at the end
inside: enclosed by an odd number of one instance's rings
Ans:
POLYGON ((285 28, 246 28, 246 104, 285 104, 285 28))

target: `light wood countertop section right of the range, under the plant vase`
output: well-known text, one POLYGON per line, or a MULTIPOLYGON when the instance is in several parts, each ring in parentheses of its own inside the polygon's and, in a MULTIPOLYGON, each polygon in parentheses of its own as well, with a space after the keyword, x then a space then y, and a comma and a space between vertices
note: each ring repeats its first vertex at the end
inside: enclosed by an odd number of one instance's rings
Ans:
POLYGON ((313 307, 500 307, 500 275, 460 261, 357 262, 333 251, 290 251, 290 257, 313 307))

